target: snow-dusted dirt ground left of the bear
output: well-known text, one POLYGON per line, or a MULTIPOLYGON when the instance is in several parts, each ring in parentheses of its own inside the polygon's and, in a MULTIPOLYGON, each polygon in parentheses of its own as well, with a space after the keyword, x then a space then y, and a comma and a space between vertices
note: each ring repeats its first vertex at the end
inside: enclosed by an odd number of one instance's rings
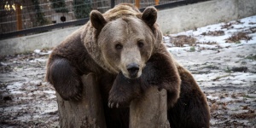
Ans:
POLYGON ((0 127, 58 126, 55 90, 44 82, 48 55, 1 56, 0 127))

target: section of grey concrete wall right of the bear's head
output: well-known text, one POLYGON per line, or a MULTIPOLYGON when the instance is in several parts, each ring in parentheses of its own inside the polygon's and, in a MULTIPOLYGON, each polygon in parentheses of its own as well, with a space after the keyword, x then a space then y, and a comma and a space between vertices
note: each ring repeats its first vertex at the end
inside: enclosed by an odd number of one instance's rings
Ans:
POLYGON ((256 15, 256 0, 214 0, 161 10, 157 22, 163 33, 177 33, 256 15))

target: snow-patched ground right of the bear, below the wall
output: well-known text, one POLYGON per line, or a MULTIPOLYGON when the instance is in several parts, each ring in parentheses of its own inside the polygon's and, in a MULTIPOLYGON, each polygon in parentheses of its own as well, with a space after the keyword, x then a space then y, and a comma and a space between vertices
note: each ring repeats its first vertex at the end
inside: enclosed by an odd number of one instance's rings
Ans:
POLYGON ((256 16, 164 37, 195 77, 211 108, 211 127, 256 127, 256 16))

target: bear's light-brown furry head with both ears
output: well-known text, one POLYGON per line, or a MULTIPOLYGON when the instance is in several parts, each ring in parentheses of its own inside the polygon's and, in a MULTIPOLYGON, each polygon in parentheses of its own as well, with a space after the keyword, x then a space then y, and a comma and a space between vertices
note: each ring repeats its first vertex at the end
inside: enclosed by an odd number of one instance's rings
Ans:
POLYGON ((96 29, 96 43, 105 67, 113 73, 121 72, 129 79, 139 78, 154 52, 156 19, 154 7, 145 9, 143 14, 134 16, 131 13, 114 20, 107 19, 96 10, 92 11, 90 22, 96 29))

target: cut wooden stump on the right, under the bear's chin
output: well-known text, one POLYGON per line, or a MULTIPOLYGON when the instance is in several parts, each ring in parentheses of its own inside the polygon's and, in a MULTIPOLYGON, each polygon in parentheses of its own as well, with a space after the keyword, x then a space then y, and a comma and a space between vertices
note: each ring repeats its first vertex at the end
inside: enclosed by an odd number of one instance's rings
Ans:
POLYGON ((170 128, 167 119, 167 93, 149 88, 143 98, 130 105, 130 128, 170 128))

